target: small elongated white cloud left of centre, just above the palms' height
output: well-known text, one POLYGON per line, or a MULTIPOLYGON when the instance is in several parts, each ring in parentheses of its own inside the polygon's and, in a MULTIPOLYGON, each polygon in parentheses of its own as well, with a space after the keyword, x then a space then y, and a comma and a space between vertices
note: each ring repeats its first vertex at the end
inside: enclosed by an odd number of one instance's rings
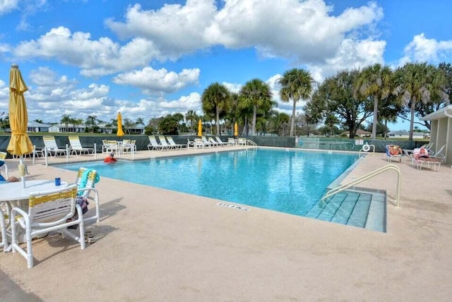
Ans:
POLYGON ((155 70, 150 67, 141 71, 121 73, 113 78, 113 82, 119 85, 132 85, 139 87, 147 94, 160 92, 175 92, 187 85, 197 84, 199 69, 183 69, 180 73, 167 71, 165 68, 155 70))

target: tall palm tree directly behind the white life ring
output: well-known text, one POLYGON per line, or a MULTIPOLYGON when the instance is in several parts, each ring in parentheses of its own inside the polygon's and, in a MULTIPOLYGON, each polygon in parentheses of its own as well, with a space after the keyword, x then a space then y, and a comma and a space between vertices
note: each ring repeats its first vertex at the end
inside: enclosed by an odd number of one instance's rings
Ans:
POLYGON ((374 122, 372 124, 372 138, 376 138, 376 125, 379 121, 379 100, 386 99, 391 94, 392 71, 388 66, 374 64, 367 66, 359 73, 355 92, 363 97, 374 99, 374 122))

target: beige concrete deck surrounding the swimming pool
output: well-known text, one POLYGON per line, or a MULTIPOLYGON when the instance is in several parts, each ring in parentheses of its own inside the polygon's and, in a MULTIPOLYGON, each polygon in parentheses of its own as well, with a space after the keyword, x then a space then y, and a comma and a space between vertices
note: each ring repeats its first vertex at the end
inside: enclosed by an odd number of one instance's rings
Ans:
MULTIPOLYGON (((135 158, 213 150, 138 151, 135 158)), ((80 158, 93 159, 70 162, 80 158)), ((57 161, 66 159, 49 162, 57 161)), ((18 159, 6 162, 17 176, 18 159)), ((75 181, 75 171, 42 162, 26 159, 28 179, 75 181)), ((386 164, 383 154, 368 155, 343 183, 386 164)), ((80 250, 68 238, 37 239, 30 270, 18 253, 0 253, 1 301, 449 301, 452 169, 393 164, 402 174, 400 207, 393 205, 396 172, 359 184, 387 191, 386 233, 220 207, 101 175, 101 221, 87 227, 97 241, 80 250)))

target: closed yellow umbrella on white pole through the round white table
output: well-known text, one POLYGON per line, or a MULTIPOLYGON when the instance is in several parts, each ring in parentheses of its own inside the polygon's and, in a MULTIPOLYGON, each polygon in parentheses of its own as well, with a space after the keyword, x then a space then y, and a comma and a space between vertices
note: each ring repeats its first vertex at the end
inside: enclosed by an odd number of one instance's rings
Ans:
POLYGON ((19 66, 11 65, 9 71, 9 126, 11 128, 11 140, 6 150, 12 155, 19 156, 18 170, 22 186, 25 188, 25 174, 27 168, 23 164, 23 155, 33 151, 33 146, 27 134, 28 112, 23 92, 28 87, 23 82, 19 66))

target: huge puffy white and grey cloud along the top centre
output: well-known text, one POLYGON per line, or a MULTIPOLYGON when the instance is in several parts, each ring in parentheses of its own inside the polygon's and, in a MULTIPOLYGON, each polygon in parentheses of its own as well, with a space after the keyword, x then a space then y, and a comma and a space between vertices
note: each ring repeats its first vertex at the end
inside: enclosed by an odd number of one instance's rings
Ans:
MULTIPOLYGON (((188 0, 184 6, 165 5, 144 11, 130 6, 124 23, 107 20, 120 37, 153 41, 168 59, 215 45, 240 49, 254 47, 263 56, 283 56, 299 62, 319 62, 335 56, 347 35, 368 35, 364 27, 383 17, 374 2, 347 8, 331 16, 333 6, 322 0, 188 0)), ((355 37, 355 39, 359 39, 355 37)))

